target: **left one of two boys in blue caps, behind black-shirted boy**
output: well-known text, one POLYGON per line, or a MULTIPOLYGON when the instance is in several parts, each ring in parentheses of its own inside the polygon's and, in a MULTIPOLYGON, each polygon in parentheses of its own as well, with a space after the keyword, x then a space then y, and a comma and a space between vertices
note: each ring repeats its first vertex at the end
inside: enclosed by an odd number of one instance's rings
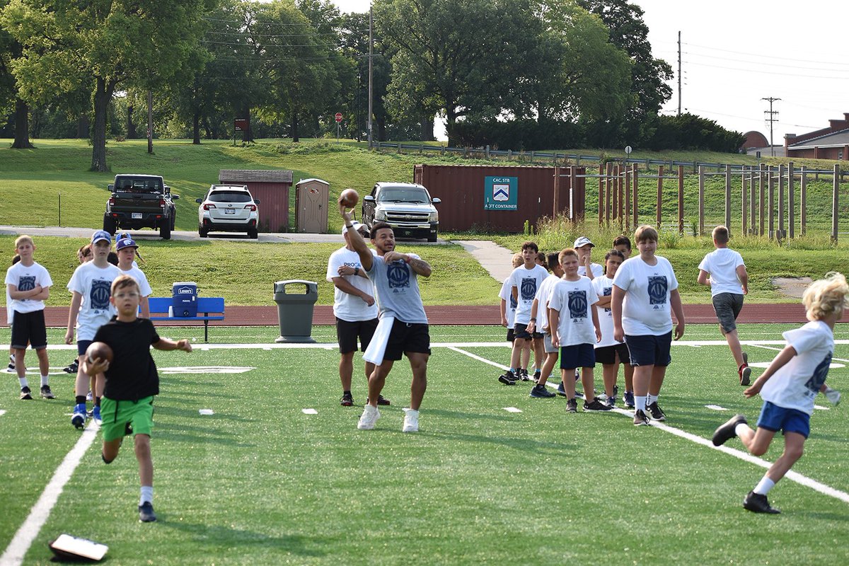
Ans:
MULTIPOLYGON (((92 235, 94 259, 77 267, 68 282, 68 290, 72 294, 72 299, 68 311, 65 344, 73 343, 76 325, 76 351, 80 356, 85 356, 98 328, 109 322, 115 315, 115 306, 110 304, 111 286, 115 277, 121 275, 121 270, 110 264, 110 251, 112 251, 110 233, 104 230, 95 232, 92 235)), ((82 360, 82 357, 80 359, 82 360)), ((100 395, 103 388, 103 375, 98 374, 94 379, 94 408, 92 412, 94 420, 98 423, 100 422, 100 395)), ((74 389, 76 401, 70 423, 77 429, 83 429, 86 424, 88 375, 82 371, 82 363, 76 373, 74 389)))

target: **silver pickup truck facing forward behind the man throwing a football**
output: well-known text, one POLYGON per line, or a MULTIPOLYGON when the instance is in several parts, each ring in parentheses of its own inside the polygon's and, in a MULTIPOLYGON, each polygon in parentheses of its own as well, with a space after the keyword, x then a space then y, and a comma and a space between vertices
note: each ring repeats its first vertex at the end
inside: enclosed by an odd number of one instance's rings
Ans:
POLYGON ((378 182, 363 198, 363 224, 386 222, 396 238, 427 238, 436 242, 439 233, 440 199, 431 199, 422 185, 412 182, 378 182))

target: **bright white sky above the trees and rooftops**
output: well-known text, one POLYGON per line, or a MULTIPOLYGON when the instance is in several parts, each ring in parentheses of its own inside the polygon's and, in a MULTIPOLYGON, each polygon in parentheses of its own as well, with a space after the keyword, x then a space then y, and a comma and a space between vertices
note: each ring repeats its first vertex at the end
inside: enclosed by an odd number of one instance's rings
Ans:
MULTIPOLYGON (((778 111, 773 141, 828 126, 849 113, 846 33, 849 2, 819 0, 633 0, 644 9, 655 57, 675 70, 678 111, 678 31, 682 42, 682 111, 739 132, 769 137, 764 112, 778 111)), ((367 12, 368 0, 335 0, 343 12, 367 12)))

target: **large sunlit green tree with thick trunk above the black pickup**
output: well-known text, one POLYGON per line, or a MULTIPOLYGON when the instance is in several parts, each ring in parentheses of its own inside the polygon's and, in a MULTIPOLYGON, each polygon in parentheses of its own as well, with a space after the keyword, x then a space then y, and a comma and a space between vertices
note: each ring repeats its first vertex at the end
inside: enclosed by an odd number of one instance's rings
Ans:
POLYGON ((94 115, 92 170, 107 171, 107 105, 115 90, 178 81, 207 8, 205 0, 11 0, 3 25, 23 45, 11 65, 22 98, 47 103, 87 85, 94 115))

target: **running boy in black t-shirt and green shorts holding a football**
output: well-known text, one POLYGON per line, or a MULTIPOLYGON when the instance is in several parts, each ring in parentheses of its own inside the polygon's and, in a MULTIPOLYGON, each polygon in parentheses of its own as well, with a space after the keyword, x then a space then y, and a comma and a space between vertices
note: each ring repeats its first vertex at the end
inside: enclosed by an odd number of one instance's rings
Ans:
POLYGON ((192 351, 188 340, 175 342, 160 338, 152 322, 138 318, 141 292, 129 275, 115 277, 110 302, 118 315, 100 327, 94 342, 104 342, 112 349, 112 361, 82 356, 82 369, 89 376, 105 374, 101 402, 104 447, 102 457, 110 463, 118 456, 121 441, 133 434, 138 476, 142 493, 138 503, 139 520, 156 520, 153 507, 154 463, 150 457, 150 433, 153 429, 154 395, 159 395, 159 374, 150 356, 150 345, 156 350, 192 351))

